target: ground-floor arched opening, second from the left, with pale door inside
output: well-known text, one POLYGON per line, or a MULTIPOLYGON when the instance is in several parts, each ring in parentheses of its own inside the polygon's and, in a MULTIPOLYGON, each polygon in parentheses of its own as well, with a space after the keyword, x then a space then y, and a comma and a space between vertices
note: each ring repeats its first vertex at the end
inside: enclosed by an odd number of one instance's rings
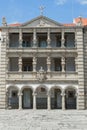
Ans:
POLYGON ((24 88, 22 96, 22 108, 24 109, 32 109, 33 108, 33 95, 32 95, 32 89, 30 88, 24 88))

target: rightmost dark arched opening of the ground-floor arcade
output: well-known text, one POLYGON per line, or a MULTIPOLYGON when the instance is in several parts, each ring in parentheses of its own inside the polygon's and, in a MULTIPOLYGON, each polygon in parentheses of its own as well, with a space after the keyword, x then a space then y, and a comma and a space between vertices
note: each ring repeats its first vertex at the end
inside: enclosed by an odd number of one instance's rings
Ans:
POLYGON ((67 88, 65 95, 66 109, 76 109, 76 90, 74 88, 67 88))

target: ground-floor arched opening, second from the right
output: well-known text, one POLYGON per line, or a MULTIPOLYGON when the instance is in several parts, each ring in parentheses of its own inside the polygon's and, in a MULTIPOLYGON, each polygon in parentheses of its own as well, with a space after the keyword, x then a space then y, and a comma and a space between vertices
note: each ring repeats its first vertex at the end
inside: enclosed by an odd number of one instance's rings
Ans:
POLYGON ((62 109, 62 96, 59 88, 51 89, 51 109, 62 109))

